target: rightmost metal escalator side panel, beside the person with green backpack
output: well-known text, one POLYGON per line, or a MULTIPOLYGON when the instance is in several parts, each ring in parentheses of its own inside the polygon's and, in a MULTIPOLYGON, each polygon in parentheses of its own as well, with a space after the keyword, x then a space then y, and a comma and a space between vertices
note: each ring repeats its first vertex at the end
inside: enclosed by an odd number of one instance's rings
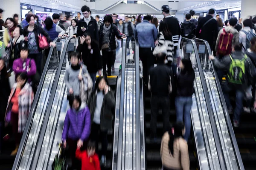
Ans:
MULTIPOLYGON (((196 39, 195 42, 199 48, 204 48, 205 54, 201 57, 208 57, 211 54, 209 43, 205 40, 196 39)), ((208 92, 210 94, 211 105, 213 108, 216 127, 220 136, 221 146, 224 152, 224 159, 228 170, 244 170, 244 165, 241 160, 241 155, 236 142, 236 137, 233 131, 230 116, 227 110, 227 105, 224 100, 224 95, 221 89, 221 84, 218 75, 213 67, 213 62, 206 64, 204 77, 207 82, 208 92)))

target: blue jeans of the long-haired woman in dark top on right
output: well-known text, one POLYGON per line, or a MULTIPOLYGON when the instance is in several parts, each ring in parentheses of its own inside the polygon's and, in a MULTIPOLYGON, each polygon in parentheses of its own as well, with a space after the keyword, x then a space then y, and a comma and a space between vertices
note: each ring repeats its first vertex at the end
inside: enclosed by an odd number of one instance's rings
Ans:
POLYGON ((191 118, 190 118, 190 110, 192 106, 192 96, 183 97, 178 96, 175 99, 175 107, 176 107, 176 115, 177 115, 177 122, 184 122, 186 127, 186 132, 184 135, 184 139, 188 141, 191 129, 191 118))

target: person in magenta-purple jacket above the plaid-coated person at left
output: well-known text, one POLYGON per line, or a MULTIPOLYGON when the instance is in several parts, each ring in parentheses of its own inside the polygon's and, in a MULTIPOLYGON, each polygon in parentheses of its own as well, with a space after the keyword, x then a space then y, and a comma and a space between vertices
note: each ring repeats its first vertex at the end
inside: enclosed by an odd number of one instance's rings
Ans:
POLYGON ((26 73, 28 79, 27 82, 32 82, 32 78, 36 73, 35 60, 28 58, 29 50, 26 47, 20 49, 20 58, 15 59, 13 62, 12 70, 15 72, 15 75, 21 73, 26 73))

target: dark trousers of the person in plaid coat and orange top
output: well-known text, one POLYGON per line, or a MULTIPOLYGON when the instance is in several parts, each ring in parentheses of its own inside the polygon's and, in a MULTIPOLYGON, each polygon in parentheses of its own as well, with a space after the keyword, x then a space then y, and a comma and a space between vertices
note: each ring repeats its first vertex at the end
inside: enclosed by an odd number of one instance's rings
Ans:
POLYGON ((12 134, 15 137, 15 144, 20 144, 22 133, 18 133, 19 113, 11 113, 12 134))

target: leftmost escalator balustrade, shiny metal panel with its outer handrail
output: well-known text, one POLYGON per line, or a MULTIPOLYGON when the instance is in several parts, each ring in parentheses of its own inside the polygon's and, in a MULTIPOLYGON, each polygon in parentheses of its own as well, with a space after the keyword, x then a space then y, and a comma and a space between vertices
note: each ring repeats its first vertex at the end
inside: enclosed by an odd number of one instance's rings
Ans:
POLYGON ((51 95, 52 85, 58 69, 58 56, 61 48, 63 48, 64 41, 65 39, 63 38, 56 38, 53 41, 55 42, 56 47, 51 47, 49 50, 49 55, 38 85, 38 90, 35 94, 27 124, 20 141, 19 150, 16 158, 14 158, 15 161, 12 162, 12 165, 8 169, 18 169, 19 166, 23 166, 24 169, 29 169, 32 162, 32 159, 30 159, 32 157, 30 156, 33 156, 37 139, 41 131, 41 125, 44 120, 44 113, 49 104, 49 96, 51 95))

